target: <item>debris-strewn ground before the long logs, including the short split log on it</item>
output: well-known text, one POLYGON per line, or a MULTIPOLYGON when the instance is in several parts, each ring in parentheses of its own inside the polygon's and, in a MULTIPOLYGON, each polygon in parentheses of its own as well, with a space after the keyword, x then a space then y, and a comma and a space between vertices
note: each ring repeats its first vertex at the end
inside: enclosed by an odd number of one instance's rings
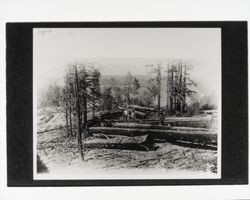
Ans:
POLYGON ((150 149, 144 148, 146 136, 106 137, 96 134, 88 137, 83 140, 85 161, 82 164, 76 139, 66 136, 62 112, 40 111, 37 124, 37 154, 47 167, 47 173, 75 168, 105 173, 129 173, 133 170, 152 174, 173 171, 217 173, 217 151, 182 147, 168 142, 155 143, 150 149))

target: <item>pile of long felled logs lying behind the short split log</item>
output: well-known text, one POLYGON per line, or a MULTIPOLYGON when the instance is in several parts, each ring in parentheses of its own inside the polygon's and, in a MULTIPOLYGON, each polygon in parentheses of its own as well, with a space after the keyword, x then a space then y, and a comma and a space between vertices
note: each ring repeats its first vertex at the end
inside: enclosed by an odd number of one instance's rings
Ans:
MULTIPOLYGON (((137 111, 140 112, 140 111, 137 111)), ((217 130, 210 128, 209 118, 168 118, 164 125, 159 120, 139 123, 113 121, 111 127, 90 127, 89 133, 106 136, 139 137, 147 135, 146 144, 170 142, 180 146, 217 149, 217 130)))

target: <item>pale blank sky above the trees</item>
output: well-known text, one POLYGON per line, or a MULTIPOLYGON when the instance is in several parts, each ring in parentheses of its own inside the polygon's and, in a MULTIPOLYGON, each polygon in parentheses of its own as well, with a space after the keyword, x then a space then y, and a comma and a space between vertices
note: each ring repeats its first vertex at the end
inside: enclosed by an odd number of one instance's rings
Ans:
POLYGON ((204 93, 219 96, 219 28, 38 28, 33 30, 34 80, 38 89, 62 83, 73 63, 92 63, 103 75, 148 75, 147 64, 183 59, 204 93))

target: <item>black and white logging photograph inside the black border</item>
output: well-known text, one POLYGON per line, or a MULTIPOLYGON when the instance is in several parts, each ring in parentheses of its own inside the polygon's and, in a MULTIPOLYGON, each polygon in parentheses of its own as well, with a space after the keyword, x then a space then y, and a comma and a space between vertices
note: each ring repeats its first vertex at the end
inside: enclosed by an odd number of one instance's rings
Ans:
POLYGON ((33 28, 34 179, 221 177, 220 28, 33 28))

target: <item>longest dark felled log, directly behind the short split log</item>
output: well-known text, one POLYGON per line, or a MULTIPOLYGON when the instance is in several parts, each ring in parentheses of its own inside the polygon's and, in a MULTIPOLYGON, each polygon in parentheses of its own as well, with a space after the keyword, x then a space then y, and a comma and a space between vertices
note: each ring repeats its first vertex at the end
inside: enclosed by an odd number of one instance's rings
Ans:
POLYGON ((114 127, 91 127, 89 133, 102 133, 106 135, 140 136, 148 135, 149 138, 167 140, 183 140, 206 144, 217 144, 217 134, 205 131, 181 131, 181 130, 159 130, 159 129, 136 129, 136 128, 114 128, 114 127))

